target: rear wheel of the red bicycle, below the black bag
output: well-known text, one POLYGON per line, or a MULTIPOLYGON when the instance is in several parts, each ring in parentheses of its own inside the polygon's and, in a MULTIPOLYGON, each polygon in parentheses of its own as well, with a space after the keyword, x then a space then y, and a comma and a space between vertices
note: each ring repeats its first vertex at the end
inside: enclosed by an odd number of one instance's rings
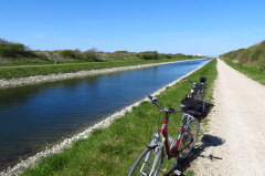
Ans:
MULTIPOLYGON (((193 141, 189 147, 184 148, 182 152, 179 153, 179 155, 178 155, 179 159, 183 159, 189 156, 189 154, 191 153, 191 151, 194 147, 194 144, 197 142, 199 130, 200 130, 200 122, 197 118, 194 118, 189 125, 189 131, 190 131, 191 135, 193 136, 193 141)), ((188 137, 190 137, 190 134, 187 132, 183 132, 183 134, 180 138, 180 144, 179 144, 178 151, 181 151, 184 146, 187 146, 190 143, 187 139, 188 137)))

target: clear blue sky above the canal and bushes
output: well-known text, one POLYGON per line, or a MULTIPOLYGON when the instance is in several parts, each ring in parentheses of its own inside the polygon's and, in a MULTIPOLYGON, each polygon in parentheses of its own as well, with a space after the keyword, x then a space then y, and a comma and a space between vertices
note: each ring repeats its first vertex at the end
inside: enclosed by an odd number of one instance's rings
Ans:
POLYGON ((264 0, 0 0, 0 38, 33 50, 216 55, 265 40, 264 0))

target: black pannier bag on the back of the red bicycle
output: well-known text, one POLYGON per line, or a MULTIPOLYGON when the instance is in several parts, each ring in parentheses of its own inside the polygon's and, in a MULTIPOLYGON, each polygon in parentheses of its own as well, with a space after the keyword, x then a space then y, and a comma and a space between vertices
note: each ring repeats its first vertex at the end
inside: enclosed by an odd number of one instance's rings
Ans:
POLYGON ((183 113, 190 114, 199 120, 208 116, 214 105, 194 97, 186 97, 181 101, 183 113))

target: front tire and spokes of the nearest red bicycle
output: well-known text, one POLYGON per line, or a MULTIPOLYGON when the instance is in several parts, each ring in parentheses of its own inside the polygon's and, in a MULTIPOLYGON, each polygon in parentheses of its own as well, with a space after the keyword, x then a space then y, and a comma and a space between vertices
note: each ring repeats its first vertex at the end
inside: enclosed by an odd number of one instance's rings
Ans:
POLYGON ((161 167, 163 153, 162 153, 162 149, 160 152, 156 152, 156 149, 160 149, 160 148, 158 148, 158 146, 152 147, 152 148, 146 148, 140 154, 140 156, 137 158, 137 161, 135 162, 132 167, 130 168, 130 172, 129 172, 128 176, 137 176, 137 175, 144 176, 144 174, 140 173, 140 169, 142 167, 144 163, 146 163, 146 165, 150 167, 150 168, 147 168, 144 172, 148 172, 147 173, 148 176, 157 176, 159 174, 159 169, 161 167), (150 158, 150 156, 152 154, 153 154, 153 157, 150 158), (158 158, 158 161, 155 164, 153 162, 156 162, 155 161, 156 157, 158 158), (145 162, 145 159, 148 159, 148 162, 145 162), (141 164, 141 162, 144 162, 144 163, 141 164), (156 169, 153 170, 153 173, 151 175, 149 175, 150 172, 151 172, 152 165, 156 165, 156 169))

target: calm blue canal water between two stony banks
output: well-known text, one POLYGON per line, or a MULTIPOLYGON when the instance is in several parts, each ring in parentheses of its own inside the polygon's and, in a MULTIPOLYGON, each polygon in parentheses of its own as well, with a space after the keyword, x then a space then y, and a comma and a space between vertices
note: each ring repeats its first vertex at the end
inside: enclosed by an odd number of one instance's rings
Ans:
POLYGON ((208 61, 0 91, 0 169, 84 130, 208 61))

